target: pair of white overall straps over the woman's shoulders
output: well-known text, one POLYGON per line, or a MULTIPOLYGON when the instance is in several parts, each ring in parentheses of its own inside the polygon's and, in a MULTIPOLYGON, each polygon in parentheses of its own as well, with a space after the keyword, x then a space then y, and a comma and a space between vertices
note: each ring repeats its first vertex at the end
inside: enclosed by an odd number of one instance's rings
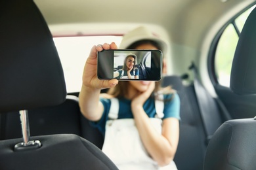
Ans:
MULTIPOLYGON (((158 95, 159 99, 155 99, 155 107, 156 107, 156 116, 155 118, 163 118, 163 109, 164 109, 164 103, 163 103, 163 94, 158 95)), ((119 112, 119 101, 117 98, 111 98, 110 99, 110 112, 108 113, 108 118, 110 120, 115 120, 118 118, 118 112, 119 112)))

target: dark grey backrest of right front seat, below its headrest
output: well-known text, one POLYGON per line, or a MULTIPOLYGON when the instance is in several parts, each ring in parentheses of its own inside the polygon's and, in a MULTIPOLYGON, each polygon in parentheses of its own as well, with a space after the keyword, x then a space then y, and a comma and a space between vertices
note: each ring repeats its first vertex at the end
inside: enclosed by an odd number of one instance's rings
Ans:
POLYGON ((255 169, 255 128, 253 118, 224 122, 207 147, 203 169, 255 169))

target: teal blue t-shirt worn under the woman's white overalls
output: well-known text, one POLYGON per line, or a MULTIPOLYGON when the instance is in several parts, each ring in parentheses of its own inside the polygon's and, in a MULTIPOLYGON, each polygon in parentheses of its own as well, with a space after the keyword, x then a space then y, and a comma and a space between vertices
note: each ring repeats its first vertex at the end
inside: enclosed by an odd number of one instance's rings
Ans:
MULTIPOLYGON (((180 98, 177 93, 175 94, 169 94, 169 95, 163 95, 163 98, 167 101, 165 102, 164 109, 163 109, 163 118, 177 118, 178 120, 181 120, 180 118, 180 98), (174 96, 172 96, 174 95, 174 96), (171 100, 171 97, 173 97, 171 100)), ((104 112, 102 114, 102 117, 98 122, 91 122, 91 125, 98 128, 98 130, 104 135, 105 134, 105 126, 106 121, 108 120, 108 112, 110 110, 111 101, 110 99, 100 98, 101 103, 104 106, 104 112)), ((156 109, 155 109, 155 101, 153 98, 148 98, 146 102, 143 105, 143 109, 145 110, 146 114, 148 114, 149 118, 154 118, 156 115, 156 109)), ((119 113, 117 119, 122 118, 133 118, 133 113, 131 112, 131 100, 121 98, 119 99, 119 113)))

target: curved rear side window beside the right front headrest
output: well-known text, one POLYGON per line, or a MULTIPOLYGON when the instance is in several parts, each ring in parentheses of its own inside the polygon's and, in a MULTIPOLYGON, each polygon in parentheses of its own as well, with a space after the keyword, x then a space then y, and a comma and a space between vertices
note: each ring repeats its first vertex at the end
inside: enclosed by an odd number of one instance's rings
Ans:
POLYGON ((253 6, 240 14, 237 18, 232 20, 225 28, 215 51, 215 77, 217 82, 222 86, 229 86, 230 73, 236 44, 238 43, 240 32, 244 27, 245 20, 249 16, 251 10, 256 7, 253 6))

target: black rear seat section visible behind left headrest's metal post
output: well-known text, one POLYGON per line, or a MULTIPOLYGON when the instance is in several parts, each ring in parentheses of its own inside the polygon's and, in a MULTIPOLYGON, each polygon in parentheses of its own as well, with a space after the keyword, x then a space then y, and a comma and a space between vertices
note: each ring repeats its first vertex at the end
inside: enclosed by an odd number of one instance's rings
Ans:
MULTIPOLYGON (((60 105, 29 109, 30 135, 75 134, 83 137, 78 97, 67 95, 60 105)), ((20 115, 16 112, 0 114, 0 140, 22 137, 20 115)))

